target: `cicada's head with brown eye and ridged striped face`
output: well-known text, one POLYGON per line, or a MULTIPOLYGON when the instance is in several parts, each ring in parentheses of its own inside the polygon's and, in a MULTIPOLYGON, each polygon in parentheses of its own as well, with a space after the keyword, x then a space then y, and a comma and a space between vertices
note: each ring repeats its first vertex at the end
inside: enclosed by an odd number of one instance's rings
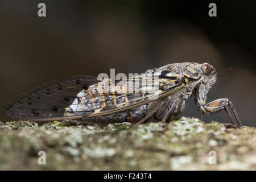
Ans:
POLYGON ((203 63, 200 65, 200 72, 203 75, 203 81, 206 89, 209 91, 217 81, 218 73, 209 63, 203 63))

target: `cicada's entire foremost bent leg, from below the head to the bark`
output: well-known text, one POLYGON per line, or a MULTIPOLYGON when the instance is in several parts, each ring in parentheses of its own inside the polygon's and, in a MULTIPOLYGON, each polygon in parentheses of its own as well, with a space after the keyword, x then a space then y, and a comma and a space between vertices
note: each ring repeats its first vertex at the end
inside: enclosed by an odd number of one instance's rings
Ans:
POLYGON ((242 123, 237 115, 237 111, 234 108, 232 102, 228 100, 228 98, 220 98, 206 104, 206 94, 204 93, 204 86, 200 85, 199 89, 197 90, 197 104, 199 106, 200 114, 213 114, 217 113, 218 111, 225 110, 232 124, 235 126, 237 124, 237 126, 240 128, 242 127, 242 123), (233 119, 228 106, 230 106, 235 119, 233 119))

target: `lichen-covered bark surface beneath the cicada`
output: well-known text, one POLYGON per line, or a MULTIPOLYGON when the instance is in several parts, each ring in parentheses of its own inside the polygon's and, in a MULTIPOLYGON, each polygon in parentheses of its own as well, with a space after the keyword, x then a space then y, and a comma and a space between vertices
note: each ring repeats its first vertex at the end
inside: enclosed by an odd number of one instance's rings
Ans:
POLYGON ((139 126, 0 122, 0 169, 255 170, 255 134, 253 127, 185 117, 139 126), (39 151, 46 152, 45 165, 38 164, 39 151), (211 151, 216 164, 209 164, 211 151))

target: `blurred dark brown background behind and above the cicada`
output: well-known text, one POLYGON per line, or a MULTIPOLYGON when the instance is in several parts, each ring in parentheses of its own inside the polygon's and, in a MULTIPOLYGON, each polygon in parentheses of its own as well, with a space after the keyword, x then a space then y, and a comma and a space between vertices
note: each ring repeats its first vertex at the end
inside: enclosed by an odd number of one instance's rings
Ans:
MULTIPOLYGON (((210 1, 0 1, 0 120, 11 121, 7 101, 59 77, 207 61, 223 69, 208 101, 229 98, 255 127, 256 1, 214 2, 211 18, 210 1)), ((182 115, 199 117, 193 100, 182 115)), ((229 122, 224 112, 211 119, 229 122)))

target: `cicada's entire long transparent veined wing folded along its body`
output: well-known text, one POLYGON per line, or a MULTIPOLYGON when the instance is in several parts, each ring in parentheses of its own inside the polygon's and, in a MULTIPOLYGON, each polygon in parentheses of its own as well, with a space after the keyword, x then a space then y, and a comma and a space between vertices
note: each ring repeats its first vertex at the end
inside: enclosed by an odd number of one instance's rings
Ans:
POLYGON ((156 81, 155 77, 147 75, 115 82, 76 76, 55 80, 24 93, 6 108, 10 117, 33 121, 97 117, 147 104, 183 86, 177 79, 156 81))

